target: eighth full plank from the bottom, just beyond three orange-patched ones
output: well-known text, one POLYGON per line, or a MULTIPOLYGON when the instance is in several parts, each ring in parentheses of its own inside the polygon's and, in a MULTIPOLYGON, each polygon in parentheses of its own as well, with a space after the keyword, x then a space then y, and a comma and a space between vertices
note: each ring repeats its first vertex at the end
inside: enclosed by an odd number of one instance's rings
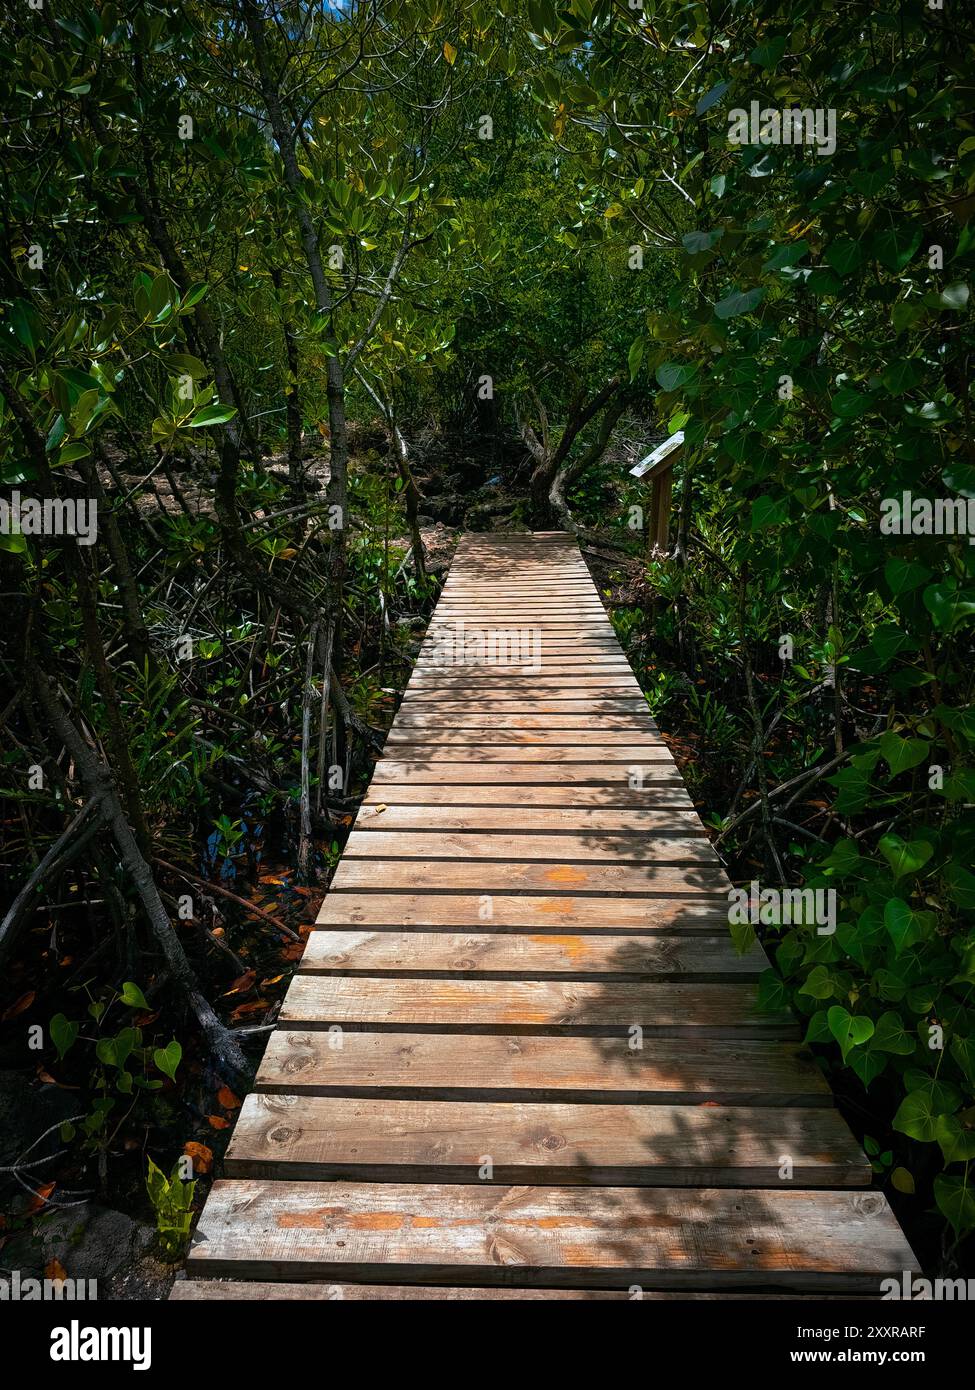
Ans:
POLYGON ((492 831, 449 830, 353 830, 345 845, 346 859, 533 859, 547 863, 613 863, 661 865, 718 865, 719 859, 704 835, 697 840, 682 835, 613 834, 593 831, 586 835, 515 835, 492 831))

